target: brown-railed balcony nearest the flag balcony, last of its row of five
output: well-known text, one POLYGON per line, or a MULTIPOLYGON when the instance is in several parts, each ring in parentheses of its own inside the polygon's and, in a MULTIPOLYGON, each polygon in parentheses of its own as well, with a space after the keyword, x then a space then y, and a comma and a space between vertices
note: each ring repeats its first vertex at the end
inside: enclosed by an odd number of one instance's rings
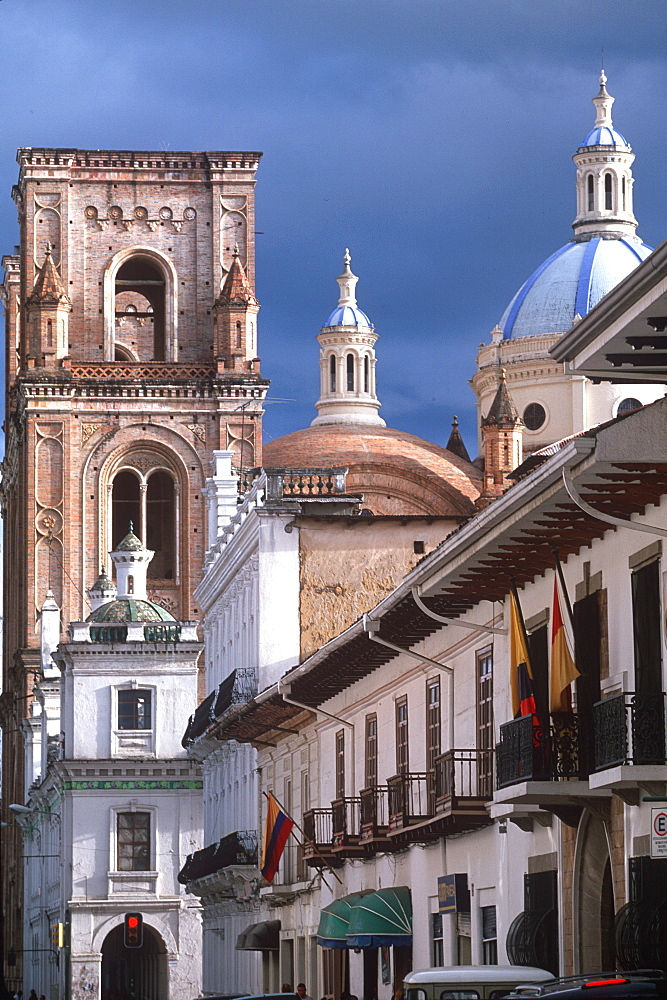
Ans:
POLYGON ((447 833, 464 833, 491 822, 493 751, 448 750, 435 759, 435 815, 447 833))

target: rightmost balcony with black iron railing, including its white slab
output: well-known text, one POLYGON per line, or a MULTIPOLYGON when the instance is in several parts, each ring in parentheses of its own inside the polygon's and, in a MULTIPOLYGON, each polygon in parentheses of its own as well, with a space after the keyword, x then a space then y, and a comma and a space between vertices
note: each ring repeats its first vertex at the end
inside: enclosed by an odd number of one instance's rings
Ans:
POLYGON ((664 691, 621 691, 596 702, 591 788, 613 789, 634 805, 642 790, 665 794, 666 708, 664 691))

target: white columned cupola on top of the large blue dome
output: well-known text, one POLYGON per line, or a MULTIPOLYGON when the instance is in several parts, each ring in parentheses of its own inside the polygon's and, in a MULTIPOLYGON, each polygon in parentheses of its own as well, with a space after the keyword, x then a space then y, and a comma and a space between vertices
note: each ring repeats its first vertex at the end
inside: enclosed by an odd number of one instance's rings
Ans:
POLYGON ((632 147, 612 124, 614 98, 600 73, 600 90, 593 98, 595 124, 573 156, 577 165, 576 238, 608 234, 612 239, 634 236, 632 211, 632 147))

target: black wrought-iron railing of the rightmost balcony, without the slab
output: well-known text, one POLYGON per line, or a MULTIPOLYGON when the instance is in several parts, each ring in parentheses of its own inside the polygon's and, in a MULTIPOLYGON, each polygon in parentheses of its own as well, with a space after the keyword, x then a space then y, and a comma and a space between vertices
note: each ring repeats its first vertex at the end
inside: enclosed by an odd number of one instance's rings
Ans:
POLYGON ((593 706, 594 769, 619 764, 664 764, 665 692, 623 691, 593 706))

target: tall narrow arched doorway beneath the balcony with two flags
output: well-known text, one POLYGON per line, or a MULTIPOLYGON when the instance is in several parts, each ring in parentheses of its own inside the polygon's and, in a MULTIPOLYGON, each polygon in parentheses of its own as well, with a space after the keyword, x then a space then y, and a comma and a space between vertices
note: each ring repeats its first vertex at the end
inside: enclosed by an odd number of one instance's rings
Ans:
MULTIPOLYGON (((586 814, 584 814, 586 817, 586 814)), ((588 814, 580 826, 577 865, 578 972, 614 968, 614 890, 604 822, 588 814)), ((575 944, 575 949, 577 945, 575 944)))

